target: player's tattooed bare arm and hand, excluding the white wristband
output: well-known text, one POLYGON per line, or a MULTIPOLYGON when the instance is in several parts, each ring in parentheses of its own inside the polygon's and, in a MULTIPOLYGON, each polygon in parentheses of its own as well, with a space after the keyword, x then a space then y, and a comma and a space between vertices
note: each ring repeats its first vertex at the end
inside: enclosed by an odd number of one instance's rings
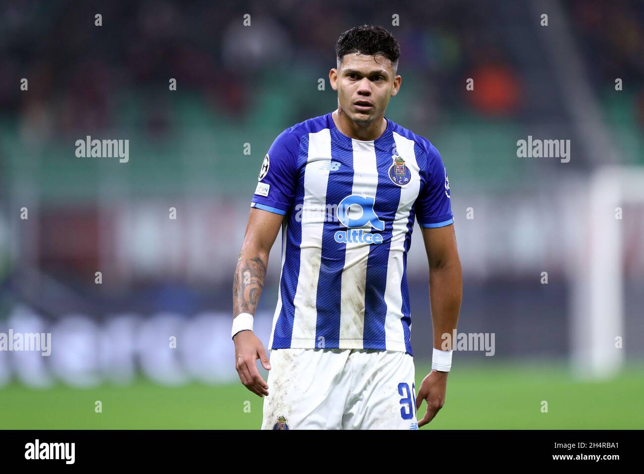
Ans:
MULTIPOLYGON (((232 312, 254 315, 264 287, 269 253, 281 227, 283 215, 252 208, 246 226, 242 250, 232 279, 232 312)), ((268 395, 268 385, 257 370, 256 360, 270 370, 269 358, 261 341, 252 331, 240 331, 233 337, 235 368, 248 390, 260 397, 268 395)))

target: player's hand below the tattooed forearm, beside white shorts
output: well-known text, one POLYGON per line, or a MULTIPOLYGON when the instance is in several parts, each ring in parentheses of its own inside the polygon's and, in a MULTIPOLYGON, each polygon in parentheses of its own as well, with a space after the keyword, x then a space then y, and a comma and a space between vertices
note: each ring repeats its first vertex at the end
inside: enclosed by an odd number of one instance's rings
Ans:
POLYGON ((261 378, 256 365, 256 360, 260 359, 263 368, 270 370, 269 357, 260 339, 252 331, 240 331, 232 341, 235 343, 235 368, 242 384, 259 397, 268 395, 269 385, 261 378))

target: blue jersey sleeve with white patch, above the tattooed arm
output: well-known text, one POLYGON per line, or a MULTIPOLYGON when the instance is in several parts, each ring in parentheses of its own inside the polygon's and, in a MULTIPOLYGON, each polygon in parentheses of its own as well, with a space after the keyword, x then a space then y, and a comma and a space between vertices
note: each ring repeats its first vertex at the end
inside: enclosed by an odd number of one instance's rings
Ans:
POLYGON ((261 163, 251 207, 285 215, 293 206, 299 138, 289 130, 278 135, 261 163))

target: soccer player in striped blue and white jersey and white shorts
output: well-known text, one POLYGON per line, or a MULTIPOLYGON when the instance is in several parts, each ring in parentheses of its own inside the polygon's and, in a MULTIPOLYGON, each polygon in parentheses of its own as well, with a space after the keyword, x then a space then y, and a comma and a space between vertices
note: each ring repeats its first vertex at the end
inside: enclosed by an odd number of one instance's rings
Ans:
POLYGON ((417 430, 444 404, 452 348, 441 335, 457 327, 460 260, 438 150, 384 116, 401 86, 399 55, 380 26, 343 33, 329 72, 337 110, 284 130, 261 164, 234 275, 232 340, 240 380, 264 397, 262 429, 417 430), (418 395, 406 279, 416 218, 433 324, 432 370, 418 395), (252 315, 280 227, 269 361, 252 315))

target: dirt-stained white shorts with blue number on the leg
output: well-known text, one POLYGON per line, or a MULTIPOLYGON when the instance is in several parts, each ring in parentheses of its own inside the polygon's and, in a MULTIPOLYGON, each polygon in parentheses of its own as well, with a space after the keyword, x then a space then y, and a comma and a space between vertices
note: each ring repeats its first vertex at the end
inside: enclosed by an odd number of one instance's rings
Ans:
POLYGON ((262 430, 418 430, 413 357, 273 349, 262 430))

